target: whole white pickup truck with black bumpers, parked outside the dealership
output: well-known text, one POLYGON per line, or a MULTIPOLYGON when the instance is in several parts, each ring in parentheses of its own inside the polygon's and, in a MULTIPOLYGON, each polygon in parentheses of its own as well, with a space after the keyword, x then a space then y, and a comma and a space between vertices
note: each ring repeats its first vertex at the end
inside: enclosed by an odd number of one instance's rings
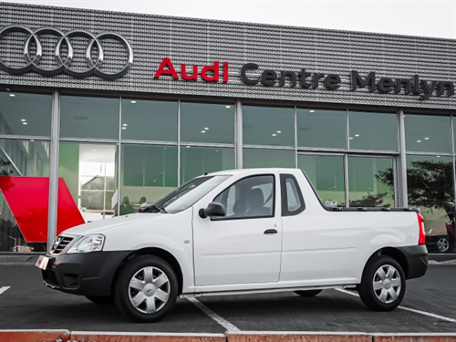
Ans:
POLYGON ((116 302, 153 322, 176 298, 356 288, 392 310, 428 267, 420 212, 330 208, 297 169, 204 174, 142 212, 61 233, 36 266, 45 285, 116 302))

